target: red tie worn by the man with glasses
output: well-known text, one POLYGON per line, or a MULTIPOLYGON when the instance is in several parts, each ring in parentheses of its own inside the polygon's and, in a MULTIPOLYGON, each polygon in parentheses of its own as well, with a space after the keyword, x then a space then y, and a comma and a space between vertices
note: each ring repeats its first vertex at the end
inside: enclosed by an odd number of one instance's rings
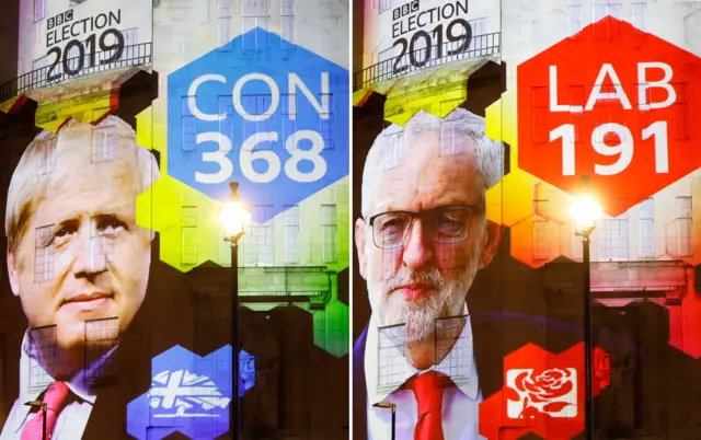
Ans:
POLYGON ((418 404, 418 420, 414 440, 444 440, 443 437, 443 379, 445 374, 429 371, 411 378, 406 385, 414 392, 418 404))

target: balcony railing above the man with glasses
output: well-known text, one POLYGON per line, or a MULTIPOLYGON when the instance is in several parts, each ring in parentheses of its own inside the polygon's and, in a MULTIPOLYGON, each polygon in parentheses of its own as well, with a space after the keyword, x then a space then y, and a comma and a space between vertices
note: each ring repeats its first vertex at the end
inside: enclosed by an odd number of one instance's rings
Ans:
POLYGON ((464 49, 461 47, 464 46, 464 42, 447 42, 440 45, 415 48, 411 53, 406 51, 355 72, 353 90, 360 90, 381 81, 462 59, 498 54, 502 49, 501 39, 502 34, 495 32, 473 35, 464 49))

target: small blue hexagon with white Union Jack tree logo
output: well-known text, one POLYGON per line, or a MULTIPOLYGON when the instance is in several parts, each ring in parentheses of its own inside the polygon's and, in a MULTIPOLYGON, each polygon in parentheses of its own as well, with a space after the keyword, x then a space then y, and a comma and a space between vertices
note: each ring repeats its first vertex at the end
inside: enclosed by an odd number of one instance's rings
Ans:
MULTIPOLYGON (((180 431, 211 440, 229 431, 231 346, 200 357, 176 345, 151 361, 151 389, 127 405, 127 432, 159 440, 180 431)), ((239 397, 255 385, 255 360, 240 352, 239 397)))

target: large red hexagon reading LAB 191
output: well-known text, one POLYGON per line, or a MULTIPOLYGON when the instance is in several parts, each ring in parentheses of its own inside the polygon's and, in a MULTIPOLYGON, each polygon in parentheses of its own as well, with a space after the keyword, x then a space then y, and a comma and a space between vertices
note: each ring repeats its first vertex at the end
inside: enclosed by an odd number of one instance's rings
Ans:
POLYGON ((701 166, 701 58, 607 16, 518 66, 519 167, 618 216, 701 166))

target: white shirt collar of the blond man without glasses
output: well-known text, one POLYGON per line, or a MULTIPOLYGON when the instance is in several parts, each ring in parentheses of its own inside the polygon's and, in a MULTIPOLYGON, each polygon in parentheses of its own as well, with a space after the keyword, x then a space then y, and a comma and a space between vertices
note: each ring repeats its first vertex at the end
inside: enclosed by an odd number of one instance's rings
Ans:
MULTIPOLYGON (((31 344, 27 331, 24 333, 22 354, 20 357, 20 397, 24 400, 23 402, 36 400, 45 390, 44 386, 30 387, 31 374, 39 378, 50 378, 42 363, 30 355, 33 351, 31 344)), ((90 386, 90 380, 87 378, 96 378, 96 373, 99 373, 103 366, 115 355, 116 349, 117 347, 112 348, 96 361, 88 366, 88 368, 78 371, 66 382, 68 389, 82 401, 94 405, 97 394, 96 391, 90 386)), ((53 381, 54 379, 51 378, 50 382, 53 381)), ((47 382, 46 385, 48 386, 50 382, 47 382)))

